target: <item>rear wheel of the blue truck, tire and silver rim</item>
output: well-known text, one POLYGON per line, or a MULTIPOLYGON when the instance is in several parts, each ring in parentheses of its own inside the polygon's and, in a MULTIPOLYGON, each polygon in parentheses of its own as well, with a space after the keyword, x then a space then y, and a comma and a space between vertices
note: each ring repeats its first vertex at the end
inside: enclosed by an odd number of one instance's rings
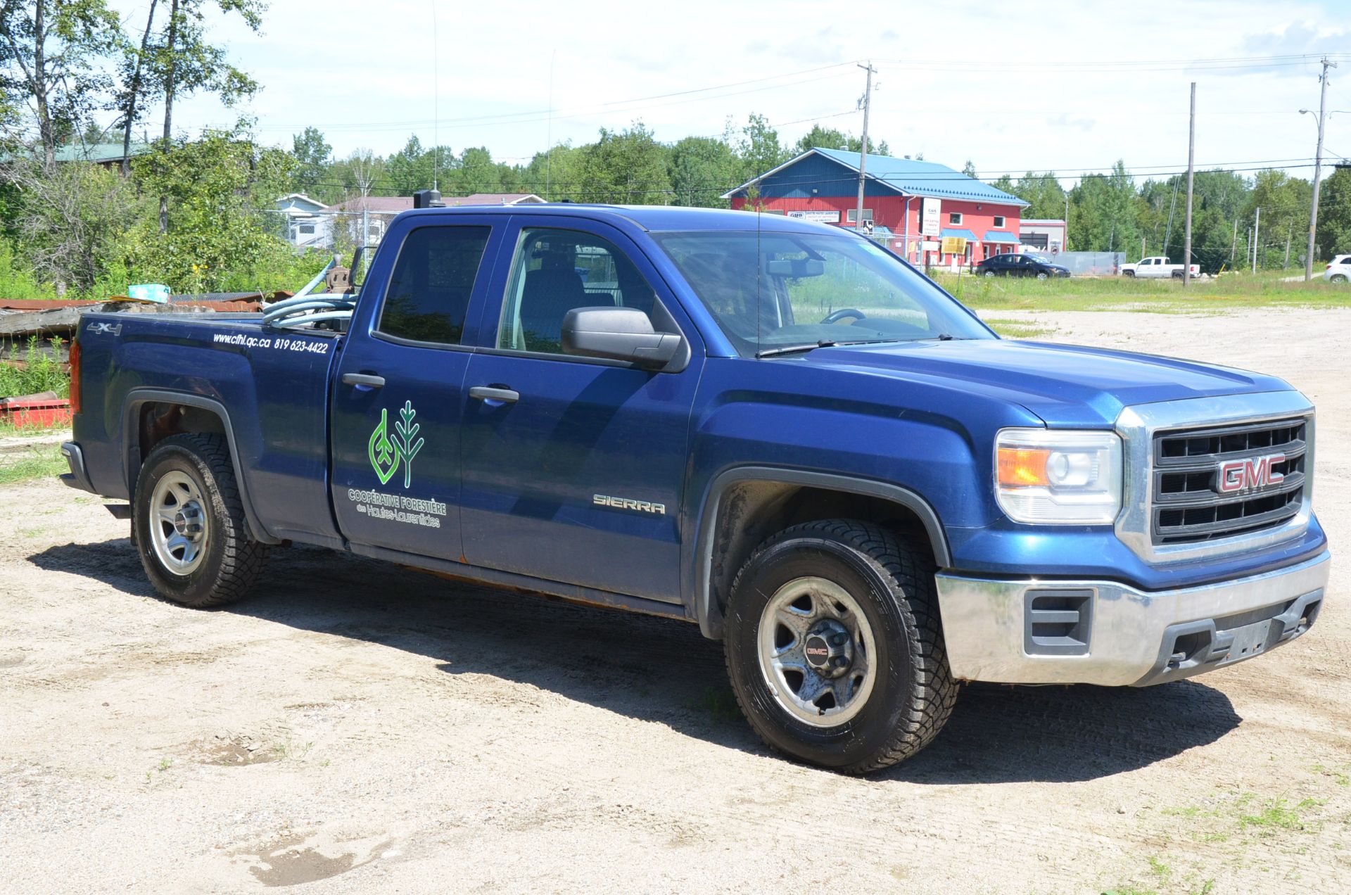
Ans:
POLYGON ((230 449, 220 435, 173 435, 136 480, 132 543, 146 577, 176 603, 226 606, 249 595, 267 545, 245 527, 230 449))

